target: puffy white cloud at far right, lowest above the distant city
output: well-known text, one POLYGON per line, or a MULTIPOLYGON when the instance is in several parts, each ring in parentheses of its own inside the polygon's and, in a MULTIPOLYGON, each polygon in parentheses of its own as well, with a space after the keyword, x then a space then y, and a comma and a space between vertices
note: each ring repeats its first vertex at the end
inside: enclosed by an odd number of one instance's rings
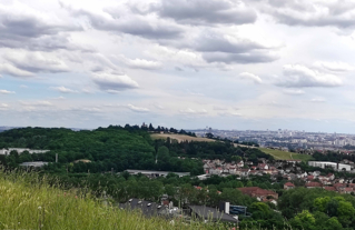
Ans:
POLYGON ((276 86, 286 88, 329 88, 343 86, 343 80, 337 76, 323 73, 302 64, 286 64, 284 66, 284 76, 278 79, 276 86))

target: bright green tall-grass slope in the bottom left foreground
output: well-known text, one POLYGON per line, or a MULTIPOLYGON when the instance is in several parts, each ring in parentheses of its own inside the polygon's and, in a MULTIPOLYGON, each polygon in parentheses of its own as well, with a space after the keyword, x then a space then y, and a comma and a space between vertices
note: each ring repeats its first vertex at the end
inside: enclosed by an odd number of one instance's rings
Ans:
POLYGON ((160 218, 144 218, 139 212, 120 210, 112 204, 48 186, 39 177, 0 172, 0 229, 41 230, 157 230, 225 229, 201 222, 170 223, 160 218), (31 178, 30 178, 31 177, 31 178))

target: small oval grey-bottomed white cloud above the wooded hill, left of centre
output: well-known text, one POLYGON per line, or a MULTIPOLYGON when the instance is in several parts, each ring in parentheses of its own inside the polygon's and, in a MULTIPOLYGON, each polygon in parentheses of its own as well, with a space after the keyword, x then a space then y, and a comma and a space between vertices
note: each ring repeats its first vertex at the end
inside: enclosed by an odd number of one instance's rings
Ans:
POLYGON ((126 74, 100 73, 93 74, 93 82, 103 91, 118 92, 138 88, 138 83, 126 74))

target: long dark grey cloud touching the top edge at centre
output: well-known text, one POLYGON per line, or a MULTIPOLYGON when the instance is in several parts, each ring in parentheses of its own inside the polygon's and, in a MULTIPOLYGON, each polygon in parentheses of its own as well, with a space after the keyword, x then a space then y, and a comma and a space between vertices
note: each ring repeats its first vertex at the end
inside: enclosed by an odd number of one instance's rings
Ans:
POLYGON ((151 10, 162 18, 188 24, 245 24, 255 22, 255 10, 234 0, 161 0, 151 10))

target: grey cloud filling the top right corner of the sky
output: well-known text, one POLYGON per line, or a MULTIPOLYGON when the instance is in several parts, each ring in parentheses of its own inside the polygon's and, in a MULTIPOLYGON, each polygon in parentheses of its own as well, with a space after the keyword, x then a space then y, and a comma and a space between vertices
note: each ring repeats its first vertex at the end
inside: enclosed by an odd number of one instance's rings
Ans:
POLYGON ((308 1, 265 0, 258 4, 262 12, 288 26, 352 28, 355 26, 353 0, 308 1))

